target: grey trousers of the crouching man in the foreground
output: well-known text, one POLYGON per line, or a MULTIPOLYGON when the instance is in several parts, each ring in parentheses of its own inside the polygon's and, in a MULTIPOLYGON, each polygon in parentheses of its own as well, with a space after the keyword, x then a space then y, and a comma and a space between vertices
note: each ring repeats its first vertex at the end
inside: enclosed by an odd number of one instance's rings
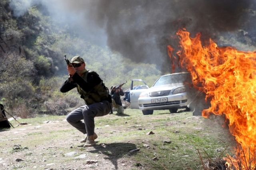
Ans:
POLYGON ((112 109, 112 104, 107 100, 102 102, 84 105, 70 112, 67 115, 67 121, 77 130, 90 136, 94 134, 94 117, 105 116, 112 109), (84 119, 84 122, 81 120, 84 119))

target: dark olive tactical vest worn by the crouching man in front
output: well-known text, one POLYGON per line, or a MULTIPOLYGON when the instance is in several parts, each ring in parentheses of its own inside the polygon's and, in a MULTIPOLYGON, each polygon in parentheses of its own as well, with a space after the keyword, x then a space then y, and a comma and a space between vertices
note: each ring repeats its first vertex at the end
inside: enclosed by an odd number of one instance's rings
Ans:
MULTIPOLYGON (((89 72, 93 72, 93 71, 88 70, 87 72, 85 72, 82 75, 82 78, 85 81, 87 81, 87 75, 89 72)), ((96 72, 94 72, 94 73, 97 74, 96 72)), ((94 86, 94 88, 92 90, 90 90, 89 92, 84 91, 78 84, 77 84, 76 88, 77 88, 78 93, 81 95, 81 98, 84 99, 84 102, 87 105, 90 105, 90 104, 93 104, 96 102, 100 102, 102 100, 107 100, 108 95, 109 95, 108 90, 102 80, 99 84, 94 86)))

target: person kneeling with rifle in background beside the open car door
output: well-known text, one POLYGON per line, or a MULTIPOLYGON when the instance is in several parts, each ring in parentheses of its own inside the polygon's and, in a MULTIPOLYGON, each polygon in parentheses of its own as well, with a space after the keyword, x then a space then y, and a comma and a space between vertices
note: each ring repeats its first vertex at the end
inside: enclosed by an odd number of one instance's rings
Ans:
POLYGON ((110 87, 110 95, 112 97, 113 107, 118 109, 117 114, 124 114, 124 108, 120 98, 120 96, 124 96, 124 91, 121 87, 116 88, 116 86, 112 85, 110 87))

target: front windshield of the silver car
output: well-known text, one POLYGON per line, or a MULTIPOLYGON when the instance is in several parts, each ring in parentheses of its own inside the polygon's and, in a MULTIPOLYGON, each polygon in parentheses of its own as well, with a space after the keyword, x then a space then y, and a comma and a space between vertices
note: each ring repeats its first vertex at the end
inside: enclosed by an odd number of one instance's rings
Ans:
POLYGON ((188 78, 188 74, 172 74, 161 76, 156 80, 153 86, 162 86, 167 84, 174 84, 174 83, 183 83, 188 78))

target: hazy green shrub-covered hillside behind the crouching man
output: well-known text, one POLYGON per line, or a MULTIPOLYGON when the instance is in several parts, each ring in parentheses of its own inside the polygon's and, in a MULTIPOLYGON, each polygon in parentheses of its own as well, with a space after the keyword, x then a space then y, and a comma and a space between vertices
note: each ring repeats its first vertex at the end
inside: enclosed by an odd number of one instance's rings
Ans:
MULTIPOLYGON (((106 86, 132 78, 152 84, 161 74, 156 65, 133 63, 107 47, 86 42, 68 26, 54 23, 42 5, 15 16, 10 0, 0 1, 0 103, 12 114, 62 115, 83 104, 73 90, 61 94, 67 78, 64 55, 80 55, 86 66, 100 74, 106 86)), ((127 83, 124 88, 128 88, 127 83)))

